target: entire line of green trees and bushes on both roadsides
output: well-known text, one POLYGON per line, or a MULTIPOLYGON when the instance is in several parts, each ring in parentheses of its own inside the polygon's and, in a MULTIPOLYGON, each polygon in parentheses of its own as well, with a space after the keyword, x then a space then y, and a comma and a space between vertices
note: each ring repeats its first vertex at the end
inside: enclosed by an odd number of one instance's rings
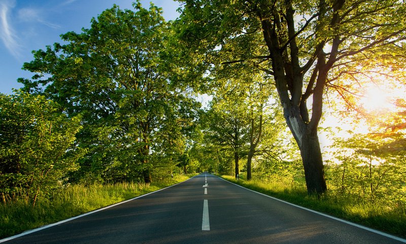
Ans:
POLYGON ((371 197, 396 181, 404 194, 404 100, 370 120, 373 143, 337 139, 351 157, 323 161, 318 137, 332 94, 344 101, 337 112, 367 116, 360 77, 404 87, 402 1, 180 2, 169 22, 153 4, 114 5, 33 51, 23 69, 35 75, 1 95, 3 202, 178 170, 304 178, 309 194, 326 192, 326 178, 331 190, 371 197), (212 97, 208 107, 199 94, 212 97))

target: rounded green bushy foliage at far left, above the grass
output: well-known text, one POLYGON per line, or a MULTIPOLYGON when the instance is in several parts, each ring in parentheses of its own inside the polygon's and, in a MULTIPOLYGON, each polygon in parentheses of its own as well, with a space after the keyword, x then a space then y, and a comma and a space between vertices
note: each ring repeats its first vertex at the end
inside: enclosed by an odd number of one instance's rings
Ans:
POLYGON ((32 205, 52 194, 78 169, 84 150, 75 145, 80 117, 58 104, 21 92, 0 95, 0 190, 3 202, 22 197, 32 205))

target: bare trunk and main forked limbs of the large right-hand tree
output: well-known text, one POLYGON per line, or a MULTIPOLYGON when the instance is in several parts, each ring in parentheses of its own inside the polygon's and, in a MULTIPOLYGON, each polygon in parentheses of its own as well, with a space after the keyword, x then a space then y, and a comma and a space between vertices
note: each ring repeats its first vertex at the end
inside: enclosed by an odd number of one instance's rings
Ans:
MULTIPOLYGON (((290 14, 292 14, 289 8, 290 7, 288 7, 288 12, 290 11, 290 14)), ((274 16, 263 16, 259 14, 259 17, 262 23, 264 40, 272 59, 272 70, 274 71, 274 78, 285 120, 300 149, 308 193, 324 193, 327 187, 324 179, 324 166, 317 136, 317 127, 322 114, 324 84, 328 68, 331 66, 326 66, 325 57, 322 53, 319 54, 317 63, 319 72, 316 85, 312 92, 312 118, 309 121, 308 116, 301 116, 301 114, 307 114, 306 103, 305 101, 301 103, 301 99, 306 100, 309 95, 301 96, 303 76, 299 75, 301 69, 296 57, 298 53, 297 47, 293 42, 294 38, 289 42, 289 46, 291 47, 291 59, 289 60, 286 50, 281 50, 280 43, 284 43, 286 40, 283 39, 283 35, 281 36, 277 32, 276 28, 279 28, 278 22, 275 22, 276 25, 274 25, 274 22, 271 21, 271 19, 278 21, 279 15, 277 13, 274 13, 274 16), (287 64, 287 66, 285 66, 285 64, 287 64), (292 65, 292 67, 290 67, 290 65, 292 65), (321 69, 321 67, 323 67, 323 69, 321 69), (300 110, 303 112, 301 113, 300 110)), ((289 21, 291 22, 292 19, 290 18, 289 21)), ((292 28, 292 26, 288 26, 288 28, 292 28)), ((280 30, 283 31, 282 28, 280 30)), ((292 31, 292 29, 289 31, 292 31)), ((291 33, 289 34, 291 35, 291 33)), ((312 78, 316 79, 316 73, 312 78)))

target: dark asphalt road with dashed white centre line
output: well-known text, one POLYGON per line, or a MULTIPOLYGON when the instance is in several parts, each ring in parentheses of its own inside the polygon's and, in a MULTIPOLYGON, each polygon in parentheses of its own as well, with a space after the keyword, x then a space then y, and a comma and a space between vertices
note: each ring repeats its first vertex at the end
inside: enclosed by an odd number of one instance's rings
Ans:
POLYGON ((200 174, 5 243, 404 242, 200 174))

